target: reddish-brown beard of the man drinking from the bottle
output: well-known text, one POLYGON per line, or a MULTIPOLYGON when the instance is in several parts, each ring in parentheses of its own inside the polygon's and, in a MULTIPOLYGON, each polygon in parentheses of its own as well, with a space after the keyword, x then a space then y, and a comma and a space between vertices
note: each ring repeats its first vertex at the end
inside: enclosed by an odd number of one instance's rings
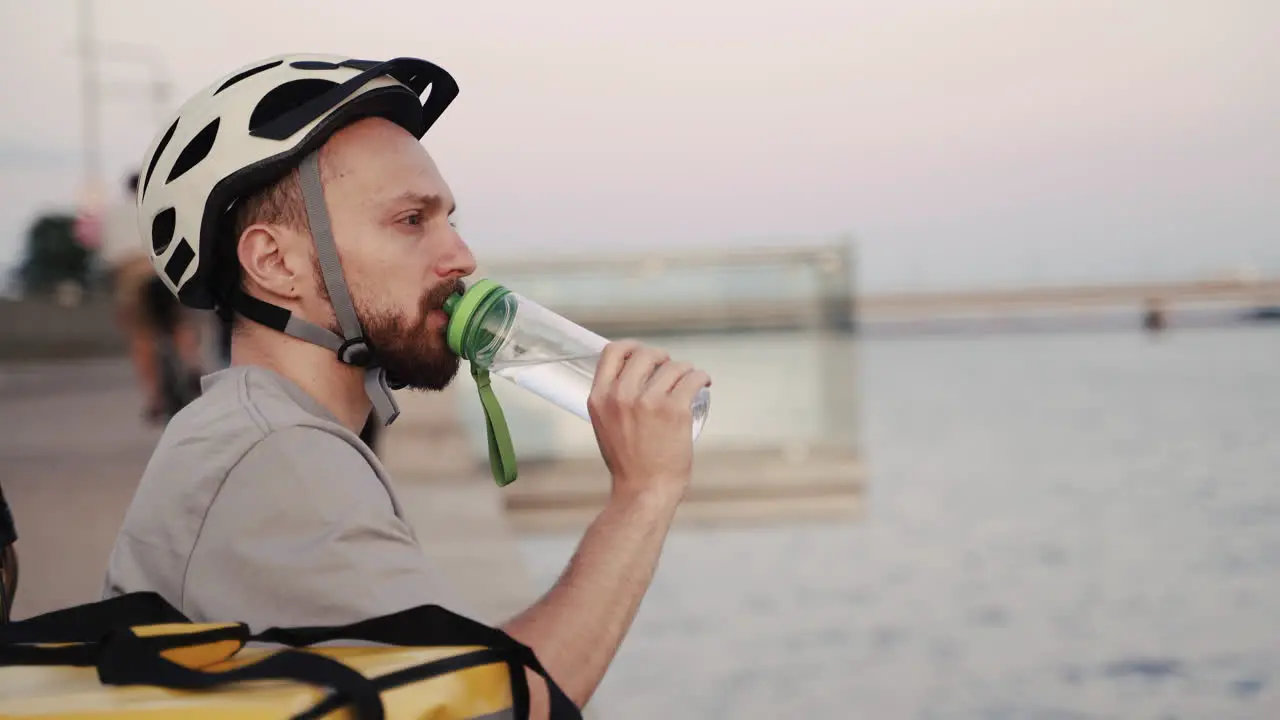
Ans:
MULTIPOLYGON (((412 324, 407 318, 370 310, 352 293, 365 338, 374 346, 378 365, 387 370, 388 380, 413 389, 435 391, 444 389, 453 380, 461 360, 449 350, 443 331, 428 328, 426 316, 431 310, 443 310, 451 295, 465 290, 462 281, 435 286, 422 296, 417 322, 412 324)), ((329 300, 323 283, 321 295, 329 300)), ((337 327, 329 329, 342 334, 337 327)))

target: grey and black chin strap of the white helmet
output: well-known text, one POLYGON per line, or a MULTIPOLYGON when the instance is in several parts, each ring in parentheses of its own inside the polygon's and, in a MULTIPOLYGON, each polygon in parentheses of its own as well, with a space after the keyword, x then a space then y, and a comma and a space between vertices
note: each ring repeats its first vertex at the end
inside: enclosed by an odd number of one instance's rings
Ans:
POLYGON ((351 293, 347 291, 347 281, 342 275, 338 246, 334 243, 333 227, 329 222, 329 210, 324 204, 324 187, 320 184, 319 151, 302 160, 298 174, 301 176, 302 200, 306 204, 311 238, 320 259, 320 272, 333 302, 334 315, 338 316, 342 336, 305 320, 284 307, 264 302, 243 292, 236 295, 233 306, 238 313, 256 323, 332 350, 347 365, 365 368, 365 393, 369 395, 370 402, 374 404, 374 411, 378 413, 383 424, 389 425, 399 415, 399 405, 392 396, 387 370, 376 364, 375 348, 365 337, 360 319, 356 316, 356 305, 351 301, 351 293))

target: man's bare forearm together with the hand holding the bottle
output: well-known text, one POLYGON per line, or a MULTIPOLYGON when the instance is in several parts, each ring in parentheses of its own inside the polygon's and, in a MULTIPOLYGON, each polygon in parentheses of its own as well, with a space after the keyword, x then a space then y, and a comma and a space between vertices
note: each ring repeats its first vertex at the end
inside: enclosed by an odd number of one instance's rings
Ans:
MULTIPOLYGON (((691 405, 709 384, 707 373, 639 342, 609 343, 600 356, 586 406, 613 493, 556 587, 503 625, 579 707, 604 678, 653 580, 692 474, 691 405)), ((530 684, 534 707, 545 712, 545 685, 530 684)))

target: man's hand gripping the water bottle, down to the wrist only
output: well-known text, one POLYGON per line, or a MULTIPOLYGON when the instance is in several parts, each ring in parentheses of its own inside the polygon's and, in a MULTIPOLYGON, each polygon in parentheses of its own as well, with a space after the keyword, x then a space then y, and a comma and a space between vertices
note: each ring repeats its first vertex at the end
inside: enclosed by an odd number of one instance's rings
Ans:
POLYGON ((691 405, 710 377, 636 341, 605 346, 586 407, 616 496, 684 497, 694 465, 691 405))

